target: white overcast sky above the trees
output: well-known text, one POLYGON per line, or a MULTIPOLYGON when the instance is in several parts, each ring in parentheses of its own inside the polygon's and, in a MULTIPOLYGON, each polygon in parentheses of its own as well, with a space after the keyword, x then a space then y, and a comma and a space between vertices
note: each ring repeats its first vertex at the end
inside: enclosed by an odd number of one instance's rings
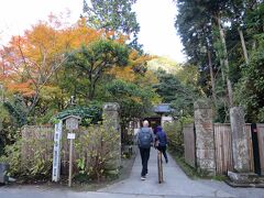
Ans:
MULTIPOLYGON (((82 0, 8 0, 0 7, 0 44, 7 44, 11 35, 23 35, 40 20, 47 20, 52 12, 70 11, 75 22, 82 12, 82 0)), ((140 23, 139 43, 146 53, 185 62, 183 45, 174 28, 176 6, 172 0, 138 0, 134 6, 140 23)))

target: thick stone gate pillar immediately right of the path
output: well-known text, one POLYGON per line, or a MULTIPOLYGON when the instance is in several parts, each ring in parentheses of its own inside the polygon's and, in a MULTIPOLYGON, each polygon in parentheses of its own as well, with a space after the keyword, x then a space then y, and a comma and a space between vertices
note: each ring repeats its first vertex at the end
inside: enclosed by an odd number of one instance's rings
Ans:
POLYGON ((208 175, 216 175, 215 135, 210 101, 198 100, 194 108, 197 166, 208 175))

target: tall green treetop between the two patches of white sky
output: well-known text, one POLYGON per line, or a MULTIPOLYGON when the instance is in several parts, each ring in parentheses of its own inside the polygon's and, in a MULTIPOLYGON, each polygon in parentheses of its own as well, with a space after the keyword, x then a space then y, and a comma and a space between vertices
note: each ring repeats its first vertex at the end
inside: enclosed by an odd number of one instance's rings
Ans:
POLYGON ((130 45, 141 51, 138 43, 140 25, 135 12, 132 11, 135 2, 136 0, 84 0, 84 14, 88 25, 132 36, 130 45))

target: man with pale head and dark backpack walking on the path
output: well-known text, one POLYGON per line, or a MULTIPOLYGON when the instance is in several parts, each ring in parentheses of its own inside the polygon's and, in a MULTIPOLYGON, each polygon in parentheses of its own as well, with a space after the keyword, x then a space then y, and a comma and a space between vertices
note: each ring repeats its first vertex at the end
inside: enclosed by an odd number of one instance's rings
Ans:
POLYGON ((143 128, 140 129, 136 135, 136 142, 140 148, 141 161, 142 161, 142 172, 141 179, 146 179, 147 174, 147 162, 150 158, 151 146, 154 143, 154 134, 152 128, 148 128, 148 121, 143 121, 143 128))

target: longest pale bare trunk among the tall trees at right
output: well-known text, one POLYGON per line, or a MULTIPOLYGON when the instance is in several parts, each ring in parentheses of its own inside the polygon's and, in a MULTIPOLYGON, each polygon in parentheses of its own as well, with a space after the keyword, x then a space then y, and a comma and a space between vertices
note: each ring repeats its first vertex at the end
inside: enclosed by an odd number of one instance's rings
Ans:
POLYGON ((224 33, 223 33, 223 30, 222 30, 222 26, 221 26, 221 21, 220 21, 219 16, 217 16, 217 23, 218 23, 218 28, 219 28, 219 32, 220 32, 220 38, 221 38, 221 43, 222 43, 222 47, 223 47, 223 65, 227 68, 226 78, 227 78, 228 95, 229 95, 229 106, 231 108, 231 107, 233 107, 233 91, 232 91, 231 80, 229 78, 228 50, 227 50, 224 33))

